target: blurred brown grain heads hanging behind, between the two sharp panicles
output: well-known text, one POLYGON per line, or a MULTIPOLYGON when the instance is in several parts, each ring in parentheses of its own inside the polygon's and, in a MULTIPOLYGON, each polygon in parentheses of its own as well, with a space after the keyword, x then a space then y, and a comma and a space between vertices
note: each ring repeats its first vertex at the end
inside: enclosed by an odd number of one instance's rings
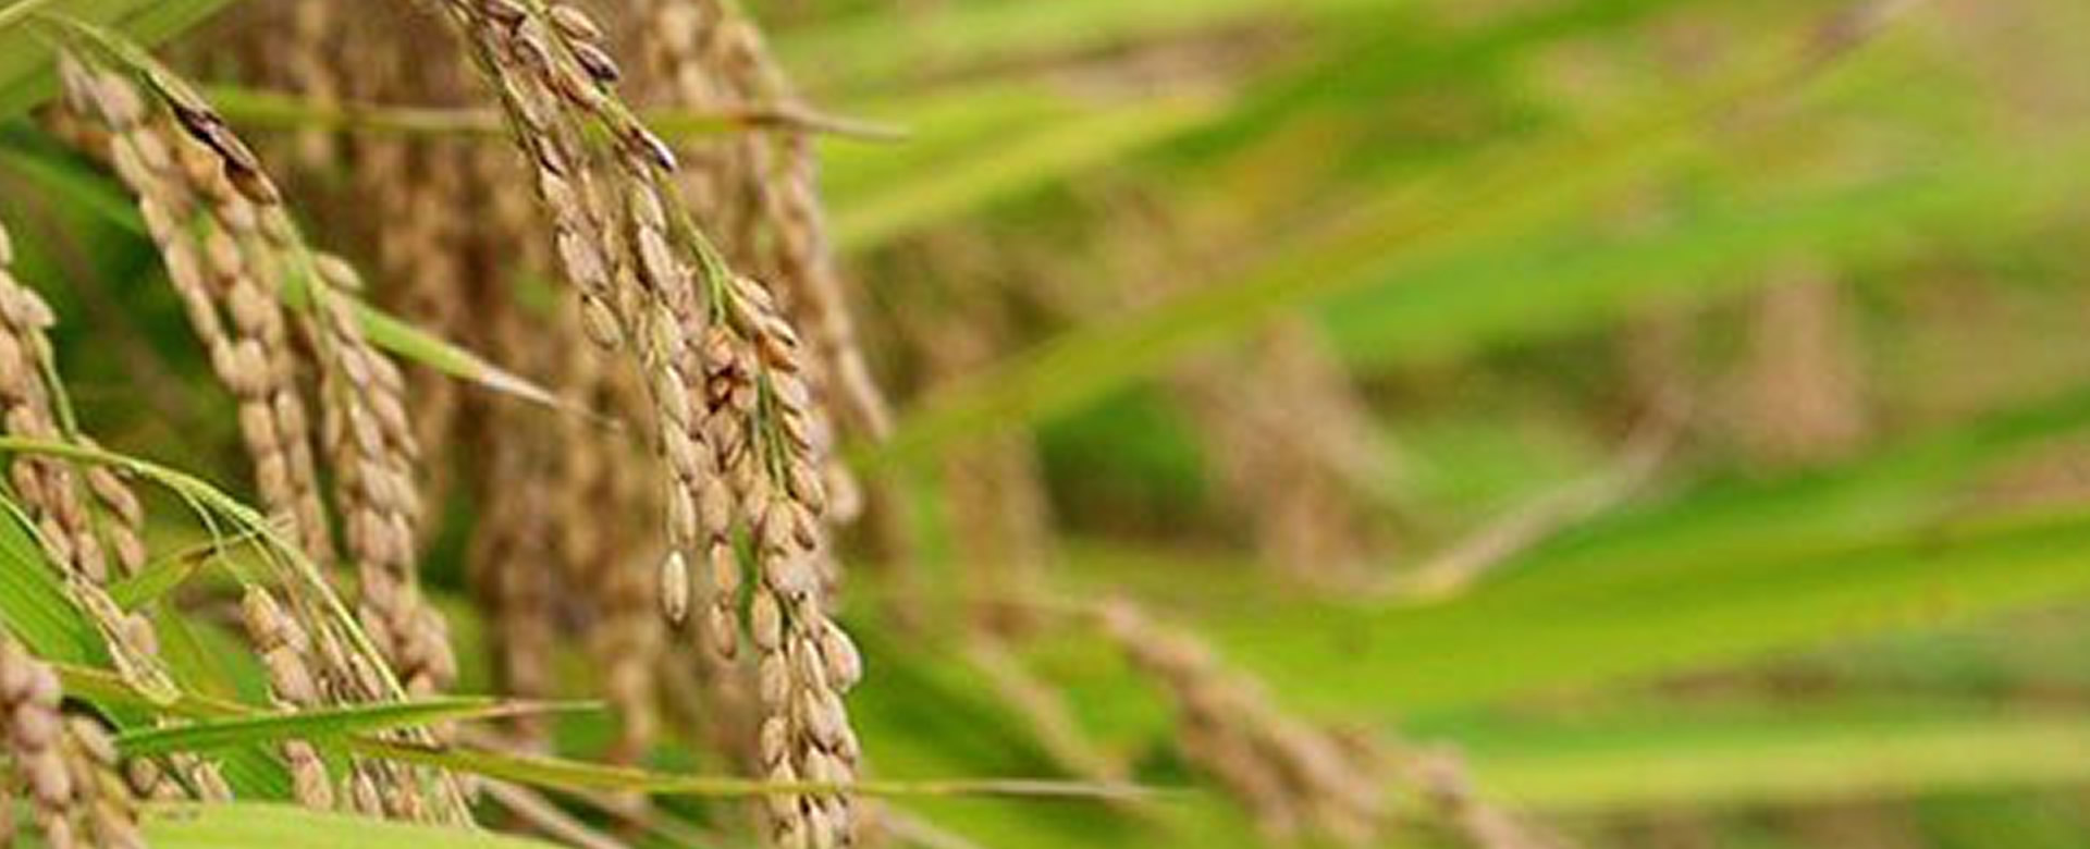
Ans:
MULTIPOLYGON (((295 50, 280 38, 295 21, 270 4, 234 15, 251 17, 238 36, 257 59, 242 69, 255 86, 318 102, 341 92, 349 102, 470 107, 481 96, 449 33, 418 15, 372 8, 339 21, 328 44, 295 50), (314 59, 334 63, 332 88, 305 73, 314 59)), ((614 351, 587 345, 573 309, 533 297, 552 257, 539 238, 531 171, 514 155, 460 138, 353 134, 339 142, 336 161, 297 174, 295 186, 324 201, 314 213, 330 232, 362 236, 380 270, 372 299, 583 408, 650 416, 644 385, 608 368, 621 366, 614 351)), ((552 696, 552 648, 560 632, 577 632, 619 717, 606 757, 633 761, 658 734, 656 680, 671 648, 654 575, 629 569, 660 563, 648 519, 660 514, 663 494, 646 475, 627 473, 644 468, 644 445, 585 420, 460 393, 441 374, 420 372, 408 385, 424 452, 422 500, 447 498, 462 473, 477 504, 468 579, 489 615, 497 682, 504 692, 552 696), (458 452, 447 448, 460 443, 483 462, 449 462, 458 452)), ((522 740, 541 728, 541 717, 512 724, 522 740)))

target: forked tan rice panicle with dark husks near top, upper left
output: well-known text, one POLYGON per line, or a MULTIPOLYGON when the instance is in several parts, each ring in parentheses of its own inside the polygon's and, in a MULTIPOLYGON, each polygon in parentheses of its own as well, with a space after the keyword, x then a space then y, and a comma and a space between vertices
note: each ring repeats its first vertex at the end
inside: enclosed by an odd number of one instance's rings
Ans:
POLYGON ((240 433, 255 458, 263 504, 288 514, 314 560, 334 552, 318 487, 297 351, 278 291, 303 282, 314 303, 307 335, 322 374, 328 445, 334 448, 349 554, 362 577, 364 623, 416 692, 454 673, 447 636, 414 583, 414 435, 397 366, 364 339, 343 291, 353 272, 309 253, 280 207, 274 182, 247 146, 201 102, 169 100, 167 115, 119 71, 63 63, 75 115, 107 138, 117 176, 138 194, 167 276, 211 351, 219 381, 240 401, 240 433), (201 228, 201 245, 196 230, 201 228))

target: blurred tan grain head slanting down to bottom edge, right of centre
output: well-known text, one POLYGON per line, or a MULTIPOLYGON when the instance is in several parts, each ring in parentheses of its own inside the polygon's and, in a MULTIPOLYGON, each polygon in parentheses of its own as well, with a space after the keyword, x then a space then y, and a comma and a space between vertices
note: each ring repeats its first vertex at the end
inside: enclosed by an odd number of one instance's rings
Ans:
POLYGON ((1386 818, 1369 751, 1277 711, 1252 680, 1229 675, 1187 634, 1131 606, 1104 611, 1104 634, 1175 698, 1179 751, 1233 793, 1273 836, 1315 830, 1371 843, 1386 818))

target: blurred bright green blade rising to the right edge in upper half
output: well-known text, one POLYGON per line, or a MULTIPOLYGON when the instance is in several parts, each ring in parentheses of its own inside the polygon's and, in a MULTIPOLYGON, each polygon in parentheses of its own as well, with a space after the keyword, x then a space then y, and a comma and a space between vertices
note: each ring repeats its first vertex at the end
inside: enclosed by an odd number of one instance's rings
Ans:
POLYGON ((1716 201, 1632 236, 1595 228, 1490 238, 1442 261, 1369 280, 1321 314, 1344 360, 1363 368, 1448 362, 1490 345, 1605 326, 1649 303, 1703 303, 1770 276, 1776 257, 1858 268, 1908 251, 1908 232, 1975 245, 2011 222, 2080 197, 2090 144, 1967 146, 1854 186, 1781 199, 1716 201), (1545 280, 1534 286, 1532 280, 1545 280))

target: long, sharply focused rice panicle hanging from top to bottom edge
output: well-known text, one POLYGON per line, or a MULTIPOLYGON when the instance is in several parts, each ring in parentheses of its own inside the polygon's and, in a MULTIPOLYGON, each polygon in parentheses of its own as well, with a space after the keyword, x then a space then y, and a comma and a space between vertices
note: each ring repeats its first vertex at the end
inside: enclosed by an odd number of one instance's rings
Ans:
MULTIPOLYGON (((821 606, 828 498, 817 468, 826 458, 796 330, 769 291, 727 270, 690 222, 667 180, 677 157, 610 88, 621 69, 600 46, 600 25, 539 2, 451 0, 445 8, 537 169, 560 266, 581 293, 583 328, 602 345, 631 345, 646 376, 650 425, 671 473, 660 586, 683 590, 692 554, 713 554, 700 529, 729 514, 734 506, 719 498, 729 491, 757 542, 746 627, 767 713, 763 763, 771 776, 849 782, 857 747, 840 692, 861 661, 821 606), (608 136, 608 151, 589 146, 587 128, 608 136), (725 425, 706 427, 713 420, 725 425), (715 483, 721 471, 727 487, 715 483)), ((704 581, 706 609, 723 613, 721 588, 736 577, 704 581)), ((663 609, 675 617, 688 598, 663 596, 663 609)), ((729 655, 725 646, 715 650, 729 655)), ((769 809, 786 845, 830 845, 853 830, 842 795, 784 795, 769 809)))

